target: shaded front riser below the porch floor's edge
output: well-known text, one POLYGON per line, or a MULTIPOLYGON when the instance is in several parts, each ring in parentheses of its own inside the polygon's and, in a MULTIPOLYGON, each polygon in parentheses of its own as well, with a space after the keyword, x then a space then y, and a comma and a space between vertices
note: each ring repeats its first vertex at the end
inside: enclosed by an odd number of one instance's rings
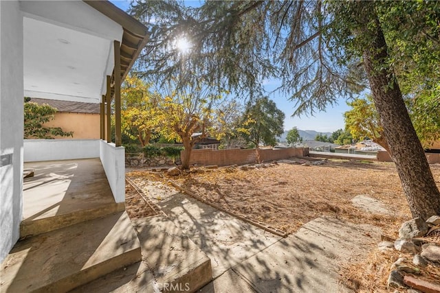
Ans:
POLYGON ((93 209, 77 209, 70 213, 52 215, 42 218, 27 218, 20 224, 20 238, 24 239, 30 236, 54 231, 59 228, 65 228, 81 222, 103 218, 113 213, 125 210, 125 203, 107 203, 101 204, 93 209))

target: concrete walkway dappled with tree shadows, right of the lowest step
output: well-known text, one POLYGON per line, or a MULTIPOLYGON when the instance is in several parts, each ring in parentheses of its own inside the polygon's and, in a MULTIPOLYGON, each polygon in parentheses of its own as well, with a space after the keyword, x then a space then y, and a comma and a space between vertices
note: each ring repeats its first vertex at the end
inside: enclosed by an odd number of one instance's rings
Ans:
POLYGON ((368 235, 380 235, 373 226, 320 217, 281 238, 184 194, 158 204, 211 259, 217 279, 201 292, 348 292, 338 284, 338 263, 373 242, 368 235))

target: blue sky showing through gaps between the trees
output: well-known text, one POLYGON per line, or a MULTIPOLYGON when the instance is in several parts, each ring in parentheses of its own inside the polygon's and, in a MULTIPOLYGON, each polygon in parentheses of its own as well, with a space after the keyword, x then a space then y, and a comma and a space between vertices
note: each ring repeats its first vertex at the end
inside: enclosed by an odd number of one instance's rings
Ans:
MULTIPOLYGON (((121 8, 122 10, 127 10, 130 5, 130 0, 124 1, 112 1, 113 4, 121 8)), ((186 5, 198 7, 201 1, 186 1, 186 5)), ((265 86, 267 91, 273 91, 276 88, 276 84, 279 84, 278 80, 269 80, 265 86)), ((283 110, 285 113, 284 128, 285 130, 292 129, 296 126, 301 130, 316 130, 318 132, 333 132, 340 128, 344 129, 344 117, 345 111, 349 110, 349 106, 345 102, 345 99, 338 99, 338 104, 328 106, 325 112, 314 113, 314 116, 301 117, 291 117, 294 113, 294 102, 290 102, 287 96, 280 93, 273 93, 270 98, 276 102, 278 108, 283 110)))

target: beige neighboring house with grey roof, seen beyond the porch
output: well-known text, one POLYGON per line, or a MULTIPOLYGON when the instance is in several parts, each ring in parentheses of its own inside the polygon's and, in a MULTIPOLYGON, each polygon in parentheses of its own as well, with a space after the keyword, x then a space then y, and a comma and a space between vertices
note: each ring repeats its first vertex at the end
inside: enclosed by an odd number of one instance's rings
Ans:
POLYGON ((100 104, 35 97, 30 102, 56 108, 54 119, 44 126, 61 127, 63 131, 74 132, 73 137, 56 137, 57 139, 100 139, 100 104))

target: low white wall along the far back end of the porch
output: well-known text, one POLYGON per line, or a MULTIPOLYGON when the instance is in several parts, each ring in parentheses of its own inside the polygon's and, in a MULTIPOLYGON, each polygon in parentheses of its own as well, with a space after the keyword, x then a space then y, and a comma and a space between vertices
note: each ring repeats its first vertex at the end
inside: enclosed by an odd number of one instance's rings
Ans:
POLYGON ((24 161, 98 158, 98 139, 25 139, 24 161))

